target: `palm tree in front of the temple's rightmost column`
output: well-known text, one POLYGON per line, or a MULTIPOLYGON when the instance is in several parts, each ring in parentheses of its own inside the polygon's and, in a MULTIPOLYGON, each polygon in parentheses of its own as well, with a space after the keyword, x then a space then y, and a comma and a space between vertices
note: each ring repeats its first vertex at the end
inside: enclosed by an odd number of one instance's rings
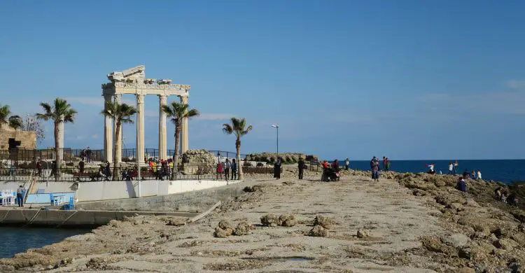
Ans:
POLYGON ((163 105, 162 111, 166 113, 168 118, 172 118, 172 123, 175 125, 175 158, 172 169, 172 179, 175 179, 177 165, 179 164, 179 141, 181 139, 181 127, 184 118, 193 118, 199 116, 197 109, 188 110, 189 105, 179 102, 172 102, 169 105, 163 105))

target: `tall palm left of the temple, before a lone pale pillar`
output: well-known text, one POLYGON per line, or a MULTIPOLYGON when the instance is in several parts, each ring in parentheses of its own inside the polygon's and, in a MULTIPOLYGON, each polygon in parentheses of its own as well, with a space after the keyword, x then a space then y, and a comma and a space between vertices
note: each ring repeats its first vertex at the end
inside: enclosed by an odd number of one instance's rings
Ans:
POLYGON ((73 123, 76 115, 76 110, 71 108, 71 104, 68 104, 65 99, 56 98, 52 106, 45 102, 41 102, 40 106, 43 108, 43 113, 37 113, 36 118, 39 120, 52 120, 55 123, 55 159, 56 159, 56 172, 55 181, 58 180, 60 173, 60 162, 62 162, 62 154, 59 153, 60 141, 62 134, 60 134, 59 125, 62 123, 73 123))

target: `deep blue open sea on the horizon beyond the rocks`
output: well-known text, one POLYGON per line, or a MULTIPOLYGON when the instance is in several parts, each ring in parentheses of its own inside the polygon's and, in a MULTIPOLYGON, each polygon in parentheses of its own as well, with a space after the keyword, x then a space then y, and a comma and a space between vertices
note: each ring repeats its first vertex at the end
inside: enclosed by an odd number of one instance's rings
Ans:
MULTIPOLYGON (((380 167, 383 167, 382 158, 380 167)), ((455 160, 454 160, 455 161, 455 160)), ((390 170, 394 172, 428 172, 430 163, 435 164, 437 174, 449 172, 449 160, 391 160, 390 170)), ((344 159, 339 160, 339 165, 344 166, 344 159)), ((370 170, 370 160, 350 160, 350 168, 367 171, 370 170)), ((505 184, 525 181, 525 160, 458 160, 456 172, 463 174, 465 170, 470 174, 472 170, 479 170, 482 179, 486 181, 500 181, 505 184)))

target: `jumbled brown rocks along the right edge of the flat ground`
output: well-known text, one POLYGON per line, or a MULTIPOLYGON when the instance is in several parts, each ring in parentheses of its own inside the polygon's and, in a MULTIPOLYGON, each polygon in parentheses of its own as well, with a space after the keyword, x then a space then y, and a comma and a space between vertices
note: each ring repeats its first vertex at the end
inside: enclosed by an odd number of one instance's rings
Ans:
MULTIPOLYGON (((454 267, 471 267, 469 272, 523 272, 525 270, 524 195, 521 207, 510 206, 494 197, 494 190, 520 192, 517 186, 467 179, 467 192, 456 190, 458 176, 395 174, 388 176, 426 199, 440 211, 440 225, 450 234, 422 237, 420 252, 436 262, 454 267)), ((522 194, 522 193, 521 193, 522 194)))

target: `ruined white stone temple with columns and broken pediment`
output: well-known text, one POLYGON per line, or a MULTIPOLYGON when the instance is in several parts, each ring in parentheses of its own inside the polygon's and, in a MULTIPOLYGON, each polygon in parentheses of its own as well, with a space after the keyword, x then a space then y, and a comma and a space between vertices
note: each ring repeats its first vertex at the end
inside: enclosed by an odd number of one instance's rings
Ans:
MULTIPOLYGON (((177 96, 181 103, 188 104, 190 85, 172 84, 172 80, 146 78, 146 66, 135 66, 122 72, 108 74, 110 83, 102 85, 102 96, 105 102, 120 102, 122 94, 134 94, 137 98, 137 156, 144 162, 144 96, 148 94, 159 97, 159 156, 167 158, 166 114, 162 105, 167 104, 169 96, 177 96)), ((113 125, 114 120, 105 117, 104 120, 104 155, 106 160, 113 162, 113 125)), ((118 139, 118 141, 121 141, 118 139)), ((122 147, 122 146, 120 146, 122 147)), ((181 151, 188 151, 188 119, 184 119, 181 128, 181 151)))

